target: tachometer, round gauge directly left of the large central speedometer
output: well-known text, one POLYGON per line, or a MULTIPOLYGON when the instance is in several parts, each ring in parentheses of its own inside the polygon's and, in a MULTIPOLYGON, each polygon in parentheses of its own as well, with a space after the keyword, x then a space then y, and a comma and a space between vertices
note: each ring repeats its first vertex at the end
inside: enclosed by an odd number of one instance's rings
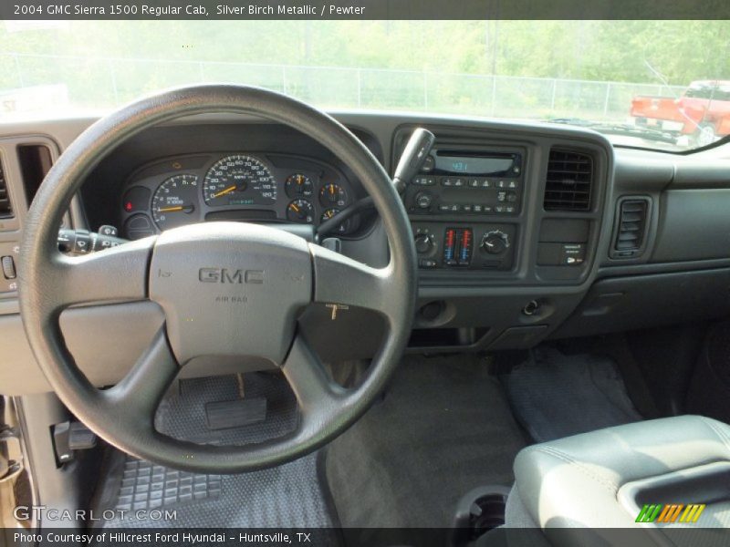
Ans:
POLYGON ((163 181, 152 196, 152 220, 160 230, 193 222, 198 202, 198 177, 175 175, 163 181))

